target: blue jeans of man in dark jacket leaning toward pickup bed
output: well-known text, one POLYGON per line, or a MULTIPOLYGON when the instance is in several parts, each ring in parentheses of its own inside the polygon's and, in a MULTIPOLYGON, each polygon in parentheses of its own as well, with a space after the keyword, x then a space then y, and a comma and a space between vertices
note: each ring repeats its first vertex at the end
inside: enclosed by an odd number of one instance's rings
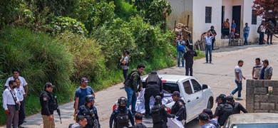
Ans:
POLYGON ((135 95, 135 90, 133 90, 131 87, 125 86, 125 92, 126 95, 128 95, 128 103, 126 107, 129 108, 129 105, 131 105, 131 112, 135 112, 135 104, 137 97, 135 95))

